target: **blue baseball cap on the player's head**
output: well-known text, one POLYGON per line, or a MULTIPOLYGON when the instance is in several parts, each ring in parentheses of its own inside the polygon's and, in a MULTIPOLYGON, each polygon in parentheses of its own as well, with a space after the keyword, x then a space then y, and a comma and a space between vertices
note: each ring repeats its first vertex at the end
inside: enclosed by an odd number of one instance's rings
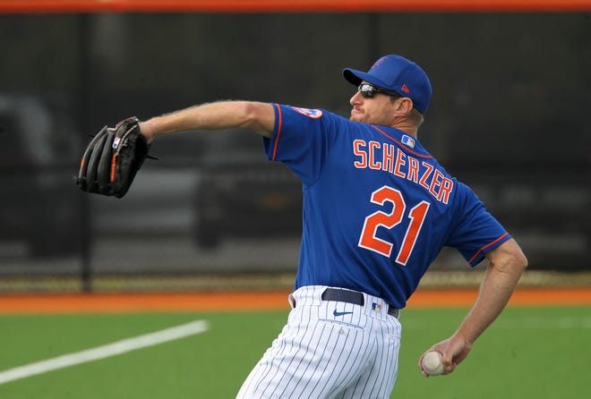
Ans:
POLYGON ((343 76, 359 86, 366 81, 379 89, 397 92, 413 100, 413 106, 424 114, 431 100, 431 82, 420 66, 400 55, 384 55, 368 72, 345 68, 343 76))

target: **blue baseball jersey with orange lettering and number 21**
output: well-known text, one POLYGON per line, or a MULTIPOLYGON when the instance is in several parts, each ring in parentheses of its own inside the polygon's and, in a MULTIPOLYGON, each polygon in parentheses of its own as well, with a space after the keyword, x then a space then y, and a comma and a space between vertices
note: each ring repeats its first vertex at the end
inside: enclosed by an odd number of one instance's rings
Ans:
POLYGON ((414 137, 326 110, 273 107, 267 157, 303 183, 295 289, 348 288, 401 309, 444 246, 474 267, 510 239, 414 137))

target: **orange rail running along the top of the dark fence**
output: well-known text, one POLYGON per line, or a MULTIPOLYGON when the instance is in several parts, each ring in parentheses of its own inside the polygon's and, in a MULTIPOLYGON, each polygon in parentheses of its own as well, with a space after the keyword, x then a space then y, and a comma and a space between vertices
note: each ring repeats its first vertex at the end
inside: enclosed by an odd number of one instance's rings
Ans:
POLYGON ((0 13, 554 13, 591 0, 2 0, 0 13))

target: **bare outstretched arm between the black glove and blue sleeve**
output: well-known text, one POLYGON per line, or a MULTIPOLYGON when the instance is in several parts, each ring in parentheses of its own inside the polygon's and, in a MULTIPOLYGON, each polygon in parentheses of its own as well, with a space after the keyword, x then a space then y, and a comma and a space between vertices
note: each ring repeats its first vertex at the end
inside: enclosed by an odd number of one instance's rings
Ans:
POLYGON ((247 101, 220 101, 192 106, 141 123, 149 139, 162 134, 193 130, 245 128, 270 137, 275 116, 270 104, 247 101))

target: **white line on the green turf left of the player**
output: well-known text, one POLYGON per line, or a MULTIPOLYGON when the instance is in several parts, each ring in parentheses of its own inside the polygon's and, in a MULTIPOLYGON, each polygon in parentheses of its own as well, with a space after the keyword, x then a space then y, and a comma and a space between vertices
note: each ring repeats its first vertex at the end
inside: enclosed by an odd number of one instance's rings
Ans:
POLYGON ((113 344, 98 346, 86 351, 64 354, 63 356, 47 359, 46 361, 37 361, 14 369, 7 369, 0 372, 0 385, 14 381, 15 379, 28 378, 47 373, 47 371, 64 369, 88 361, 98 361, 121 353, 174 341, 185 336, 201 334, 208 329, 209 325, 207 321, 196 320, 182 326, 170 327, 146 335, 134 336, 133 338, 127 338, 113 344))

